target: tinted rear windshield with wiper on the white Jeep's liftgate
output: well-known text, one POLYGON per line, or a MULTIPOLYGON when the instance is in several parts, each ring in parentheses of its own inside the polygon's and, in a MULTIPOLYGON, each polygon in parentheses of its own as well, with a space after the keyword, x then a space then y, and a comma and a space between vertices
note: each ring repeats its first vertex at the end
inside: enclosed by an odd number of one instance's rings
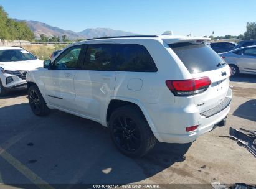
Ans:
POLYGON ((204 71, 216 70, 225 64, 220 56, 206 44, 192 44, 188 42, 169 44, 169 47, 184 63, 190 73, 201 73, 204 71))

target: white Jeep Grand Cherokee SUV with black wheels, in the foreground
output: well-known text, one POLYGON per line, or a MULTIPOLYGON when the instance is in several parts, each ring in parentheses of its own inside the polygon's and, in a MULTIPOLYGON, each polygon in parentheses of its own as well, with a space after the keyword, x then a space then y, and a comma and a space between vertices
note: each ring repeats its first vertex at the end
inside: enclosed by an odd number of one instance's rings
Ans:
POLYGON ((193 142, 224 124, 230 68, 200 37, 127 36, 77 42, 27 73, 29 104, 109 127, 123 154, 156 141, 193 142))

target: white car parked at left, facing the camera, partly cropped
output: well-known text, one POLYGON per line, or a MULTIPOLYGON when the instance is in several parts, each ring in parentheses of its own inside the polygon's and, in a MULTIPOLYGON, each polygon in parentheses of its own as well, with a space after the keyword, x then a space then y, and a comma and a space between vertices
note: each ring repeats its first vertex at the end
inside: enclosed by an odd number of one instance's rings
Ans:
POLYGON ((0 47, 0 96, 27 88, 27 71, 43 67, 42 60, 20 47, 0 47))

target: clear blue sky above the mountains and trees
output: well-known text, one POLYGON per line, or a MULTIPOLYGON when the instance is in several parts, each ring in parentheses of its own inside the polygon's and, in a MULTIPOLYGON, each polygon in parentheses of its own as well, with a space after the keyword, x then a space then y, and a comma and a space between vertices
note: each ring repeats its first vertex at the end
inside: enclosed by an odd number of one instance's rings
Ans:
POLYGON ((0 0, 9 17, 45 22, 65 30, 108 27, 138 34, 239 35, 256 21, 247 0, 0 0))

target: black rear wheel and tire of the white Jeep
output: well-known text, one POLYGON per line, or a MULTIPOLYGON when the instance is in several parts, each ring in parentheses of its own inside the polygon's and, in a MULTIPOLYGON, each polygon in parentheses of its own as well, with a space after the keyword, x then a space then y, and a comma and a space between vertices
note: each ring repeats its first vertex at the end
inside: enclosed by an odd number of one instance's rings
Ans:
POLYGON ((117 149, 130 157, 141 157, 156 145, 148 122, 136 106, 117 108, 110 116, 109 129, 117 149))

